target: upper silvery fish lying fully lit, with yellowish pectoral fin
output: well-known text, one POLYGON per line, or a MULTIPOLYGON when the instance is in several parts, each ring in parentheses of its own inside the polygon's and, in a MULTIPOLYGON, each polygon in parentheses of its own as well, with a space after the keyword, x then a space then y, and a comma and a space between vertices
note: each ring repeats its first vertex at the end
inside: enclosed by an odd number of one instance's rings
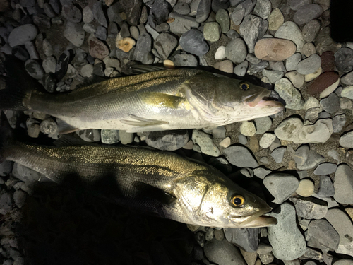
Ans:
POLYGON ((1 110, 33 110, 58 119, 59 132, 117 129, 128 132, 216 127, 275 114, 280 102, 264 100, 270 90, 198 69, 138 66, 147 71, 111 78, 70 93, 44 93, 7 59, 7 89, 1 110))

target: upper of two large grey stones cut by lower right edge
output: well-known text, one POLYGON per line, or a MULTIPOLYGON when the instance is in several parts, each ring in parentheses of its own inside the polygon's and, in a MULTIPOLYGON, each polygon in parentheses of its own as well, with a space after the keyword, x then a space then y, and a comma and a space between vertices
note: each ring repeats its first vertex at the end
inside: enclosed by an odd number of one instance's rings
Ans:
POLYGON ((340 204, 353 204, 353 172, 346 164, 340 164, 335 172, 335 200, 340 204))

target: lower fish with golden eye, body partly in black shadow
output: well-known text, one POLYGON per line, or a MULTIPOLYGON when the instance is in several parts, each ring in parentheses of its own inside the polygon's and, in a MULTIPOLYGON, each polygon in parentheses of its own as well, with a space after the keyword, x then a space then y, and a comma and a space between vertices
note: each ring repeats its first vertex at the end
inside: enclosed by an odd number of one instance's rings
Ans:
POLYGON ((37 146, 0 131, 7 159, 140 213, 216 228, 275 225, 271 210, 222 172, 175 153, 114 146, 37 146))

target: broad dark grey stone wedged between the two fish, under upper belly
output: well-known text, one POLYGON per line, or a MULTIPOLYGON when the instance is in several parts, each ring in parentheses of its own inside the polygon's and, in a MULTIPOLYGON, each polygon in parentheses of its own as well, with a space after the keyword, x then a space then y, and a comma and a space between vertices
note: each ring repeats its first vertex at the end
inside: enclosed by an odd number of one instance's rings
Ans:
POLYGON ((146 138, 148 146, 167 151, 182 148, 188 141, 189 133, 187 130, 152 131, 146 138))

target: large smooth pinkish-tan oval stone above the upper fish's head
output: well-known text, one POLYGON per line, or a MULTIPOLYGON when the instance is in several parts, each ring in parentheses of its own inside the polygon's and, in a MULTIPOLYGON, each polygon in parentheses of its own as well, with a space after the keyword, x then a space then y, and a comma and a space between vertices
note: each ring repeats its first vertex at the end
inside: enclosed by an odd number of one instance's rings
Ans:
POLYGON ((283 61, 297 50, 292 40, 268 38, 256 42, 255 56, 265 61, 283 61))

